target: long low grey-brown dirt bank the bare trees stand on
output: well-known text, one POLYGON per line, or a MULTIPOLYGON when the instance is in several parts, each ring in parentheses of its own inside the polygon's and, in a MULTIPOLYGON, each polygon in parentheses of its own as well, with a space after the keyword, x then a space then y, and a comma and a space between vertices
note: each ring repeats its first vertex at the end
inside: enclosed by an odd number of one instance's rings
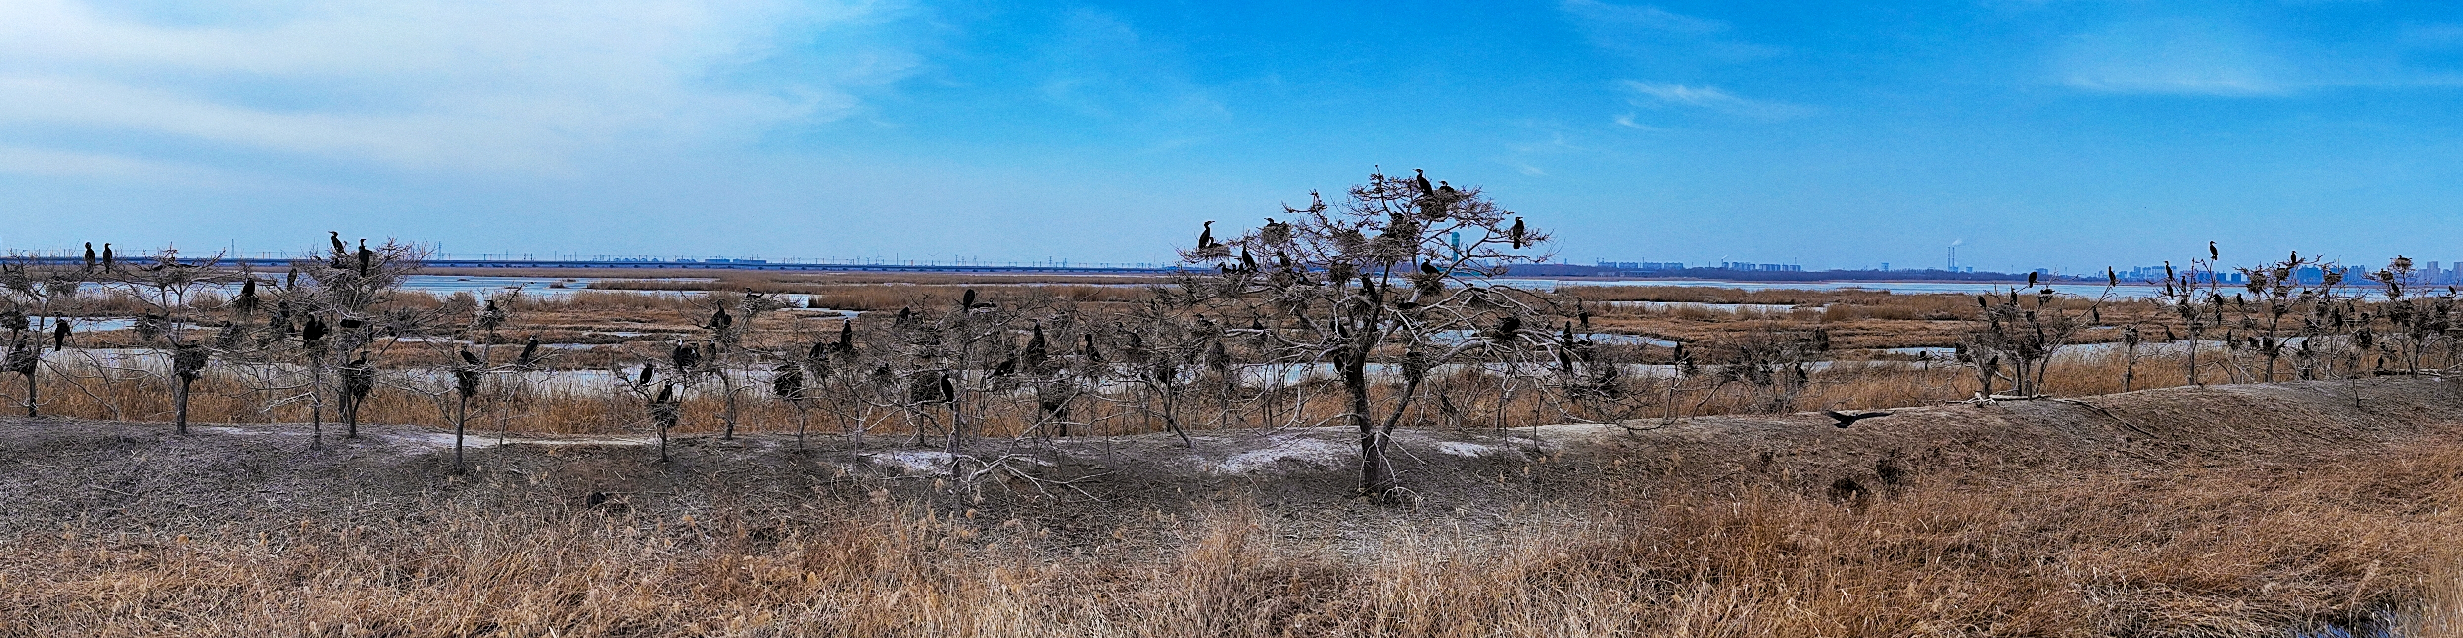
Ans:
MULTIPOLYGON (((1603 485, 1680 493, 1776 485, 1860 498, 1916 475, 2111 473, 2175 466, 2298 466, 2451 431, 2463 387, 2441 379, 2150 389, 1897 409, 1837 429, 1820 414, 1699 416, 1675 424, 1562 424, 1404 431, 1397 463, 1419 507, 1490 512, 1603 485)), ((76 520, 126 530, 419 522, 443 503, 510 510, 635 507, 663 515, 793 520, 815 500, 901 495, 1098 535, 1108 517, 1204 503, 1288 505, 1300 517, 1392 510, 1352 498, 1357 443, 1342 429, 983 441, 451 436, 367 426, 310 446, 298 424, 200 426, 0 419, 0 532, 76 520), (1323 510, 1323 515, 1310 515, 1323 510)))

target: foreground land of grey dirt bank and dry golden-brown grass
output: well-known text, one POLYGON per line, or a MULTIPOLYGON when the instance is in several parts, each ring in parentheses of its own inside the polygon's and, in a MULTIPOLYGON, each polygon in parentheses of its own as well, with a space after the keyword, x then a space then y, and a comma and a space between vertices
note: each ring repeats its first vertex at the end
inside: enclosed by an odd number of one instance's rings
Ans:
POLYGON ((963 480, 776 436, 453 475, 421 429, 5 419, 0 631, 2453 636, 2458 409, 2369 379, 1414 431, 1416 507, 1345 500, 1323 431, 975 448, 1044 463, 963 480), (1259 451, 1288 456, 1232 468, 1259 451))

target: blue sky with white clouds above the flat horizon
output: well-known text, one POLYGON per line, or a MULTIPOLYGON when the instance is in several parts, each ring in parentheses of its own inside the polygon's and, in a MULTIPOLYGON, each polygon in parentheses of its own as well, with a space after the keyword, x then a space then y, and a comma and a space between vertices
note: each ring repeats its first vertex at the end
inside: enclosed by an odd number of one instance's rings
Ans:
POLYGON ((0 246, 1153 261, 1372 165, 1564 261, 2463 259, 2446 2, 0 2, 0 246))

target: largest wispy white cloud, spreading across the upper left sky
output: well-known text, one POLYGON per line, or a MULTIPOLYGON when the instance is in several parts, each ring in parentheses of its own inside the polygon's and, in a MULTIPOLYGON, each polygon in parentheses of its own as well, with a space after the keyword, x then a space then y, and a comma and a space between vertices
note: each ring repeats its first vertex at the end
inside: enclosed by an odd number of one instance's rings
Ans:
POLYGON ((557 170, 606 145, 751 138, 842 118, 916 62, 862 39, 884 5, 766 0, 315 2, 150 20, 81 0, 0 2, 0 138, 158 135, 399 168, 557 170), (783 47, 825 69, 739 84, 783 47))

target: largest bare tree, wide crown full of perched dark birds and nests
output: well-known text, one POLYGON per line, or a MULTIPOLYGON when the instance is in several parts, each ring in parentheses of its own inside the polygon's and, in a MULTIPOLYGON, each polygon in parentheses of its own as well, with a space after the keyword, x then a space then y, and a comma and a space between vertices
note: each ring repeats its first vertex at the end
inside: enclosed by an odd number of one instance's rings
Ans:
POLYGON ((1542 261, 1547 234, 1478 187, 1374 172, 1340 202, 1310 192, 1305 207, 1286 204, 1227 241, 1212 224, 1180 254, 1202 271, 1182 276, 1175 298, 1219 313, 1224 333, 1254 333, 1271 357, 1332 367, 1340 419, 1360 431, 1362 495, 1394 498, 1387 448, 1431 369, 1549 345, 1544 323, 1525 330, 1532 296, 1488 281, 1507 264, 1542 261), (1372 402, 1372 362, 1379 377, 1399 377, 1394 402, 1372 402))

